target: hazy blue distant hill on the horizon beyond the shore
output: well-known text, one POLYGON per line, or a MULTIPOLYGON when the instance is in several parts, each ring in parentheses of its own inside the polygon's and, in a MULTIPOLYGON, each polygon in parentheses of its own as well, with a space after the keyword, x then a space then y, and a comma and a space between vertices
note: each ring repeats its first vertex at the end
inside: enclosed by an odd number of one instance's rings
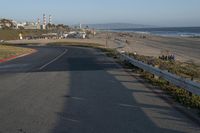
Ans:
POLYGON ((106 24, 83 24, 82 27, 88 26, 89 28, 113 30, 113 29, 135 29, 135 28, 155 28, 151 25, 130 24, 130 23, 106 23, 106 24))

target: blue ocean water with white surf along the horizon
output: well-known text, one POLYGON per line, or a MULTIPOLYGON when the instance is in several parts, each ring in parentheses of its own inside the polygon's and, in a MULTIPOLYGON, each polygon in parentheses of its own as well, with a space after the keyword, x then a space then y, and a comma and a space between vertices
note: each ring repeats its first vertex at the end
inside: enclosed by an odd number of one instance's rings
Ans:
POLYGON ((158 36, 200 37, 200 27, 113 29, 115 32, 134 32, 158 36))

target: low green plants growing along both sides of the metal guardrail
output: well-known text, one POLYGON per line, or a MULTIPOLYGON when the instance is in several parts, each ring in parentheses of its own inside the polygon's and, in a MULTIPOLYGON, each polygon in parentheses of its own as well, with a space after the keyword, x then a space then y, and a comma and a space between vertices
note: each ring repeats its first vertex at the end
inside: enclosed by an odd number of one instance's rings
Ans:
MULTIPOLYGON (((117 52, 115 50, 102 49, 102 51, 110 57, 113 57, 115 59, 118 58, 117 52)), ((162 61, 153 57, 133 55, 132 53, 130 55, 137 60, 143 61, 153 66, 158 65, 160 69, 169 70, 169 72, 177 74, 179 76, 199 78, 199 67, 195 64, 188 64, 176 61, 162 61)), ((180 104, 189 108, 200 109, 200 96, 191 94, 185 89, 170 84, 168 81, 162 78, 154 78, 153 74, 143 71, 140 68, 137 68, 127 62, 121 62, 119 59, 117 59, 117 61, 121 63, 125 68, 132 69, 134 73, 141 75, 142 78, 144 78, 152 85, 162 89, 180 104)))

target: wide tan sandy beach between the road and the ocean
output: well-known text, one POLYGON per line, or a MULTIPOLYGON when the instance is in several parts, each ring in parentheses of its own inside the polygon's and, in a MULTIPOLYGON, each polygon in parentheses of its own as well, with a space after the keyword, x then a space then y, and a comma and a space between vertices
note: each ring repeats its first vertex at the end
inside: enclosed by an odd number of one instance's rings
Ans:
POLYGON ((116 48, 120 51, 136 52, 140 55, 154 57, 159 57, 163 51, 169 51, 176 56, 177 60, 200 64, 200 38, 161 37, 138 33, 98 32, 96 36, 90 36, 90 39, 8 41, 8 43, 40 44, 52 42, 98 43, 104 47, 116 48))

